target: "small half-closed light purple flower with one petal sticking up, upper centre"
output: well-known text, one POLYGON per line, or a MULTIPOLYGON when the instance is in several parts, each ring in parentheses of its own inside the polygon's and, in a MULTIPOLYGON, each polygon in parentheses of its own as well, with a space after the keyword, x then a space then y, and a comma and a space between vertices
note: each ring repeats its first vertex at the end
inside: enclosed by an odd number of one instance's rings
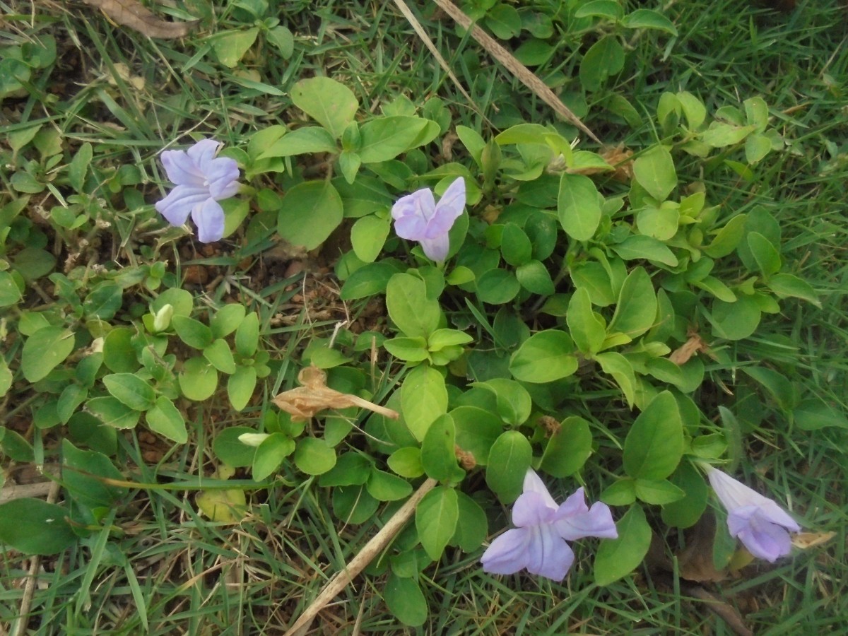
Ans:
POLYGON ((421 243, 428 259, 448 257, 448 232, 466 207, 466 181, 461 177, 451 183, 438 204, 432 190, 422 187, 398 199, 392 206, 394 231, 401 238, 421 243))

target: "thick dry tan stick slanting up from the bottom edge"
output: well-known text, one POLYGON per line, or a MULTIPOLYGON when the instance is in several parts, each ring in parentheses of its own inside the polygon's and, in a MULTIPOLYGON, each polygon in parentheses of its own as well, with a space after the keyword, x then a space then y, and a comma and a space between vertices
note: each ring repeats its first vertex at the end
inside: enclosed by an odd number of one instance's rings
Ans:
POLYGON ((360 550, 360 553, 354 556, 341 572, 336 572, 326 582, 324 589, 321 589, 321 593, 315 597, 315 600, 312 601, 311 605, 306 608, 306 611, 300 615, 284 636, 296 636, 296 634, 304 633, 309 628, 315 616, 318 616, 318 612, 323 610, 327 603, 336 598, 365 569, 365 566, 371 563, 374 557, 386 548, 394 538, 394 535, 409 521, 410 516, 416 511, 416 507, 421 502, 421 499, 424 498, 424 495, 429 493, 435 486, 435 479, 427 479, 426 482, 422 483, 410 499, 392 515, 392 518, 380 529, 380 532, 375 534, 371 538, 371 541, 365 544, 365 547, 360 550))

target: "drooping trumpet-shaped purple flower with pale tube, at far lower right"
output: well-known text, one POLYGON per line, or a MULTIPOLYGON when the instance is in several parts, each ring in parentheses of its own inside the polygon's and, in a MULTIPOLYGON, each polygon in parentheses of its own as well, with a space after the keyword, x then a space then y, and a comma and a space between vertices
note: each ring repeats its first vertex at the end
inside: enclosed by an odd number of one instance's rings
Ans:
POLYGON ((730 535, 738 537, 754 556, 769 562, 788 555, 792 549, 789 532, 801 527, 772 499, 751 490, 726 472, 709 466, 706 476, 722 505, 728 509, 730 535), (788 532, 789 531, 789 532, 788 532))

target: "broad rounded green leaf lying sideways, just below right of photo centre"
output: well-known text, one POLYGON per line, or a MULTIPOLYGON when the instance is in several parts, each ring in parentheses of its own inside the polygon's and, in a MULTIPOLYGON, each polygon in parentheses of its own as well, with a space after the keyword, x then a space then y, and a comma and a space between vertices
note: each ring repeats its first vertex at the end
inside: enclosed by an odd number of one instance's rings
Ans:
MULTIPOLYGON (((656 315, 656 308, 655 308, 656 315)), ((577 371, 574 343, 566 332, 534 333, 510 357, 510 373, 520 382, 554 382, 577 371)))

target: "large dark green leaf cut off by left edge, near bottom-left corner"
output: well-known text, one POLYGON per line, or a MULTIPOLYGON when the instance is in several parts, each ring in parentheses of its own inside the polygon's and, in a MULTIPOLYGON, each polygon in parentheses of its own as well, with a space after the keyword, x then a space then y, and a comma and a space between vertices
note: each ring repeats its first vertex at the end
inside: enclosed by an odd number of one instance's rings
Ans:
POLYGON ((61 505, 41 499, 12 499, 0 504, 0 544, 25 555, 55 555, 75 544, 77 536, 65 521, 61 505))

